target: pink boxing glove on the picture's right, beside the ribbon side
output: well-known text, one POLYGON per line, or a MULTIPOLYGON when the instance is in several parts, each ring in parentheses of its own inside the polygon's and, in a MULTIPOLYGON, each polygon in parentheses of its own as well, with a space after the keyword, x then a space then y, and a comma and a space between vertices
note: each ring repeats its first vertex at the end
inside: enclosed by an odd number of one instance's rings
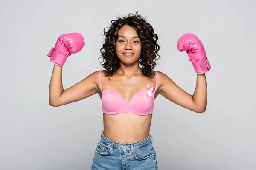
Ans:
POLYGON ((177 49, 180 52, 186 51, 189 56, 189 61, 192 62, 197 74, 204 74, 211 70, 204 45, 194 34, 183 34, 177 42, 177 49))

